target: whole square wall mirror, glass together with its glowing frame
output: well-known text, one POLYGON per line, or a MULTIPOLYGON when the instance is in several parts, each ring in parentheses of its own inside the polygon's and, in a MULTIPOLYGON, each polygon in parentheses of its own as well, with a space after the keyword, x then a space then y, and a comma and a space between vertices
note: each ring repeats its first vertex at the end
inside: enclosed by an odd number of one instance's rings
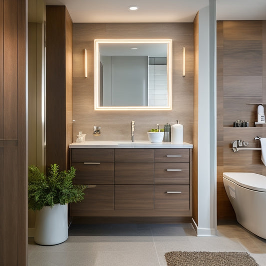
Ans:
POLYGON ((172 109, 172 40, 94 40, 94 109, 172 109))

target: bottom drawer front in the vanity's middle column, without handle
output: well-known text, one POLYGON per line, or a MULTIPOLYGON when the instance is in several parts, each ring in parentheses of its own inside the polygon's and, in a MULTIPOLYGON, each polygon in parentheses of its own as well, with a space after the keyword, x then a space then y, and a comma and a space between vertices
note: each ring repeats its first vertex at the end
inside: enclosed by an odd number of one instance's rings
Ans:
POLYGON ((115 210, 153 210, 154 187, 153 185, 115 185, 114 199, 115 210))

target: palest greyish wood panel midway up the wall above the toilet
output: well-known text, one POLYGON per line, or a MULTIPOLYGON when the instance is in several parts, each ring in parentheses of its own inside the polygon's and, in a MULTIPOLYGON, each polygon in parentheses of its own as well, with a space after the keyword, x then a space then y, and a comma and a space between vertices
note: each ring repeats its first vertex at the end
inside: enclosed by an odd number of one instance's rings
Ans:
POLYGON ((262 97, 262 76, 224 76, 225 97, 262 97))

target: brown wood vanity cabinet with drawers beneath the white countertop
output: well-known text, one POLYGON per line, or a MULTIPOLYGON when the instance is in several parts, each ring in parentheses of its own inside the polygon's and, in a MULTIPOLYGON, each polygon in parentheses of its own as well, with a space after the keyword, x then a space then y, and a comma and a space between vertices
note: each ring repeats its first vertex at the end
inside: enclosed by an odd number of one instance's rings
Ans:
POLYGON ((71 216, 191 217, 192 149, 70 149, 74 184, 91 185, 71 216))

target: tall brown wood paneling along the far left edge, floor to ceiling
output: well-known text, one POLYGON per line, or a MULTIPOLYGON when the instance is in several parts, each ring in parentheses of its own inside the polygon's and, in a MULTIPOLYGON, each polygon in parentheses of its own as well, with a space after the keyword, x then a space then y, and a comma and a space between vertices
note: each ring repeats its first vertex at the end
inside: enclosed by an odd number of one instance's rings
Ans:
POLYGON ((0 0, 0 265, 27 265, 26 1, 0 0))

